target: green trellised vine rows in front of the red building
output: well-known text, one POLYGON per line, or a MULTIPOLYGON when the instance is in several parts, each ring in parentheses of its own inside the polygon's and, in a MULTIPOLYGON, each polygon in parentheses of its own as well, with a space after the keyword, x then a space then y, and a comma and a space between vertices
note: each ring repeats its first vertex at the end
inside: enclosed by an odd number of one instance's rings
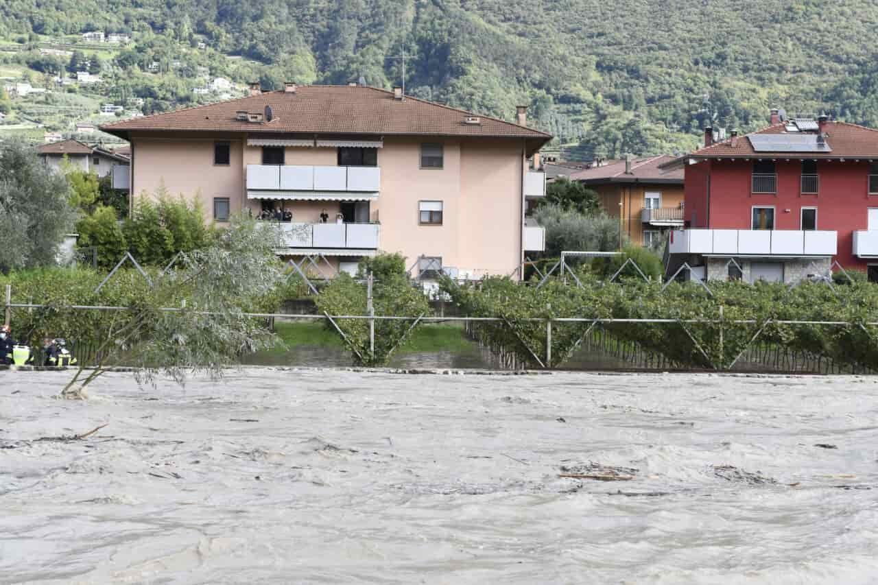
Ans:
POLYGON ((878 321, 878 287, 869 283, 834 289, 815 283, 788 290, 781 284, 711 282, 711 295, 694 283, 672 283, 663 292, 658 281, 629 278, 623 285, 604 285, 586 272, 579 278, 582 287, 552 279, 537 290, 508 278, 488 278, 479 285, 464 286, 446 280, 443 289, 466 314, 500 318, 480 323, 475 335, 494 349, 514 352, 519 363, 526 365, 539 365, 539 361, 548 367, 563 364, 592 327, 590 321, 553 321, 548 359, 545 320, 584 318, 674 320, 595 327, 683 367, 728 368, 759 333, 764 343, 831 358, 841 365, 878 369, 878 331, 867 325, 878 321))

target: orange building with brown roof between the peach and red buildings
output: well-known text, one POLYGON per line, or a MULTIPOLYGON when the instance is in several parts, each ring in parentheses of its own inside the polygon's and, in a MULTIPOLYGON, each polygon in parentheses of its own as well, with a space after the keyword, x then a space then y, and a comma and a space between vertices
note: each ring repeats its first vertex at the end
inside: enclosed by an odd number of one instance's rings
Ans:
POLYGON ((651 247, 664 241, 668 230, 683 227, 683 170, 661 166, 672 161, 669 155, 627 158, 569 178, 601 196, 604 211, 618 218, 629 242, 651 247))

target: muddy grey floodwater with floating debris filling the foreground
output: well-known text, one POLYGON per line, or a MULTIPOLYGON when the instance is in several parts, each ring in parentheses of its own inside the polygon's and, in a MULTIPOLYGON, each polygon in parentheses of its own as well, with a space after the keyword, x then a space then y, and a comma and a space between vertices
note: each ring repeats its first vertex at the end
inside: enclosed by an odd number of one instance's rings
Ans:
POLYGON ((878 579, 876 379, 68 376, 0 372, 0 583, 878 579))

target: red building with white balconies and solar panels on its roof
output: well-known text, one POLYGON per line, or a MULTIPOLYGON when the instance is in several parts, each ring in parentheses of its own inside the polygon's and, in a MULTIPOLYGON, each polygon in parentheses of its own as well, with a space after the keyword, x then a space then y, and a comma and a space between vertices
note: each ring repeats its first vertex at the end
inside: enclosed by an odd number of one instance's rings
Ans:
POLYGON ((685 167, 672 268, 795 282, 838 260, 878 280, 878 131, 777 110, 771 122, 716 143, 706 129, 704 148, 668 165, 685 167))

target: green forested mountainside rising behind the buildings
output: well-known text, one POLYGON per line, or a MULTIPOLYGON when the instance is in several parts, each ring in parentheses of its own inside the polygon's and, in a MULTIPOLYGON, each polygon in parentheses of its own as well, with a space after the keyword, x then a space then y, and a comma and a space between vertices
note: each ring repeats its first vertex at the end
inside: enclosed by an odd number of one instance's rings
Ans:
POLYGON ((131 33, 104 56, 104 92, 145 98, 146 113, 206 99, 192 91, 199 66, 268 87, 363 77, 389 88, 402 78, 394 57, 409 54, 408 93, 506 119, 529 103, 534 124, 581 157, 692 148, 709 120, 748 130, 772 105, 878 126, 876 25, 869 0, 0 4, 0 42, 18 45, 4 59, 37 71, 67 65, 46 64, 65 57, 40 43, 131 33))

